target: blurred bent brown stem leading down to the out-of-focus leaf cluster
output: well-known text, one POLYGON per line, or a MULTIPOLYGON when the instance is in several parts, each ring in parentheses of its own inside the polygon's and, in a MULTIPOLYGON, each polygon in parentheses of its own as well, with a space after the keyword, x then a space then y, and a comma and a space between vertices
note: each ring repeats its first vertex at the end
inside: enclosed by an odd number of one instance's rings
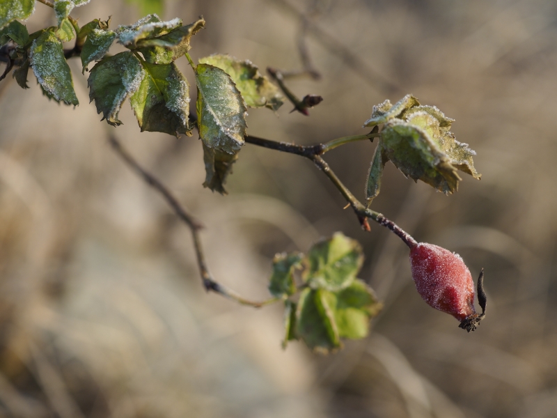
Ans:
POLYGON ((199 267, 199 272, 201 274, 201 280, 203 281, 203 286, 205 287, 205 290, 207 292, 212 291, 214 293, 218 293, 219 295, 227 297, 228 299, 235 300, 240 304, 256 308, 260 308, 281 300, 281 298, 279 297, 272 297, 261 302, 253 302, 242 297, 240 294, 236 293, 232 289, 227 288, 226 286, 223 286, 215 281, 212 278, 211 273, 209 272, 209 268, 207 267, 207 261, 205 260, 205 254, 203 252, 203 245, 201 244, 201 238, 199 236, 199 231, 203 228, 201 222, 198 222, 197 219, 192 217, 187 212, 187 210, 185 210, 185 208, 180 205, 178 199, 173 196, 173 194, 166 188, 166 186, 164 186, 164 184, 161 183, 160 180, 146 171, 146 169, 143 169, 143 167, 141 167, 141 165, 136 162, 134 157, 132 157, 132 155, 130 155, 130 153, 128 153, 127 150, 123 148, 118 139, 110 137, 109 142, 114 152, 118 154, 123 162, 125 162, 125 164, 127 164, 127 166, 130 167, 130 169, 132 169, 139 177, 143 178, 145 183, 159 192, 163 199, 166 200, 166 203, 168 203, 174 213, 178 216, 178 219, 189 226, 189 229, 191 231, 191 238, 194 241, 197 264, 199 267))

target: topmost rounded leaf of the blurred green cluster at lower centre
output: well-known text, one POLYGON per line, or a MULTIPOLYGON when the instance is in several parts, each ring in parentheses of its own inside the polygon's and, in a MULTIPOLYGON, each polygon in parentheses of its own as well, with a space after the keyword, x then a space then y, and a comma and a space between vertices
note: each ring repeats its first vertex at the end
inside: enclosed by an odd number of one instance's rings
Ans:
POLYGON ((338 291, 350 286, 362 263, 359 242, 336 232, 331 238, 314 244, 308 251, 302 278, 311 288, 338 291))

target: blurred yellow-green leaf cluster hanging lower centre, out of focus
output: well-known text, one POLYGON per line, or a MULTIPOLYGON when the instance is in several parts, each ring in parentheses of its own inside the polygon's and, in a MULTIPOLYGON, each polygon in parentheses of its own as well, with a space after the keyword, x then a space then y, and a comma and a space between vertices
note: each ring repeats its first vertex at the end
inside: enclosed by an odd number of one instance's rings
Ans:
POLYGON ((370 319, 382 304, 357 278, 362 263, 359 243, 340 232, 317 242, 307 254, 275 256, 269 291, 285 300, 283 348, 288 341, 301 339, 312 350, 330 353, 342 348, 343 338, 368 335, 370 319), (295 272, 301 277, 300 286, 295 272))

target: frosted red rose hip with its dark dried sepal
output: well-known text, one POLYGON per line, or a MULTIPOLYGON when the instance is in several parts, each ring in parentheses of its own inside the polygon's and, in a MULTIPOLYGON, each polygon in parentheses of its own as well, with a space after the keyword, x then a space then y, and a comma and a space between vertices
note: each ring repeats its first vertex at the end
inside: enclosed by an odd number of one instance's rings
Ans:
POLYGON ((478 279, 478 302, 482 314, 474 308, 474 283, 462 258, 437 245, 416 243, 410 248, 410 268, 416 289, 435 309, 460 320, 462 329, 476 330, 485 317, 483 269, 478 279))

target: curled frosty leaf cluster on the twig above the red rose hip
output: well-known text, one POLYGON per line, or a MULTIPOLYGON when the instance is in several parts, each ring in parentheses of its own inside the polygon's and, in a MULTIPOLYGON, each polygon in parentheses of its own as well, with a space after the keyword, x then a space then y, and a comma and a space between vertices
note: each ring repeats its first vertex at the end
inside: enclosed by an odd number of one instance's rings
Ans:
POLYGON ((462 180, 457 170, 479 179, 481 175, 473 166, 476 153, 468 144, 455 139, 450 132, 453 122, 437 107, 423 106, 412 95, 394 105, 385 100, 374 106, 364 126, 383 123, 384 127, 368 173, 368 206, 379 194, 387 161, 393 162, 405 176, 422 180, 446 194, 455 192, 462 180))

